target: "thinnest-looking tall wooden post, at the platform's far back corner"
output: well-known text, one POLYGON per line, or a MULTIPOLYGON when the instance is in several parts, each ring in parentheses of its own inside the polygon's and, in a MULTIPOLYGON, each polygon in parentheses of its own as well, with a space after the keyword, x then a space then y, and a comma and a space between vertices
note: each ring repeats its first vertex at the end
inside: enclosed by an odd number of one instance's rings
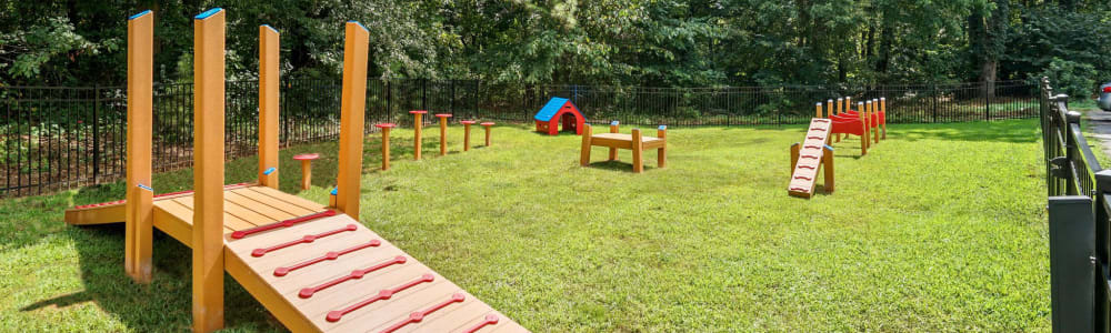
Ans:
POLYGON ((259 184, 278 189, 278 71, 279 34, 259 27, 259 184))

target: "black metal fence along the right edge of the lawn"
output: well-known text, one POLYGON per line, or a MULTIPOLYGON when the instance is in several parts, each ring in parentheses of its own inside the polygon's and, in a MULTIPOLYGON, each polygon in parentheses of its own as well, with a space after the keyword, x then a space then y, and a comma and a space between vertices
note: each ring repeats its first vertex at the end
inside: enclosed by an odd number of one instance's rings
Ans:
POLYGON ((1040 115, 1049 194, 1054 332, 1109 332, 1111 170, 1104 170, 1069 110, 1042 80, 1040 115))

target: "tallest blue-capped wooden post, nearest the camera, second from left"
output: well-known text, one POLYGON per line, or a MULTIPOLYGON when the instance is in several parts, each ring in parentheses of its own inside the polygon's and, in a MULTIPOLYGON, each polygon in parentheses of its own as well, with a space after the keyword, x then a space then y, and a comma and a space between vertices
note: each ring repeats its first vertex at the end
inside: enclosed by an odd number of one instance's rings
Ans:
POLYGON ((193 18, 193 332, 223 327, 224 11, 193 18))

